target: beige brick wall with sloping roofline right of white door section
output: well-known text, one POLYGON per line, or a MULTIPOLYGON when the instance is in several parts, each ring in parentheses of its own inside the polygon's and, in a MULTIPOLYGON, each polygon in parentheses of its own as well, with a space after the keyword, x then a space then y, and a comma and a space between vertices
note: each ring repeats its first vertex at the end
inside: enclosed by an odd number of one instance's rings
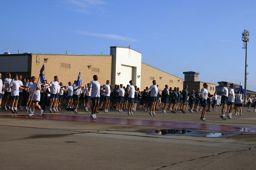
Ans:
POLYGON ((152 85, 152 80, 150 77, 154 77, 156 84, 159 85, 160 90, 163 90, 165 85, 169 85, 169 88, 179 87, 181 90, 183 89, 183 79, 173 76, 160 69, 156 69, 145 63, 141 63, 141 90, 146 88, 146 86, 149 87, 152 85), (162 79, 160 79, 160 77, 162 77, 162 79), (172 80, 172 82, 170 82, 170 80, 172 80))

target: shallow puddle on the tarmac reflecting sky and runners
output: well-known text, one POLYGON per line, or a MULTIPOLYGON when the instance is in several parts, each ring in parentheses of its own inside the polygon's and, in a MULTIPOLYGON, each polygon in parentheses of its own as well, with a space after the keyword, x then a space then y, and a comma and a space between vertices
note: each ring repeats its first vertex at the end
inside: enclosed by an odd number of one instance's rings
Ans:
POLYGON ((199 137, 219 138, 219 137, 230 137, 237 134, 220 133, 220 132, 201 132, 190 129, 157 129, 147 131, 146 133, 151 135, 191 135, 199 137))

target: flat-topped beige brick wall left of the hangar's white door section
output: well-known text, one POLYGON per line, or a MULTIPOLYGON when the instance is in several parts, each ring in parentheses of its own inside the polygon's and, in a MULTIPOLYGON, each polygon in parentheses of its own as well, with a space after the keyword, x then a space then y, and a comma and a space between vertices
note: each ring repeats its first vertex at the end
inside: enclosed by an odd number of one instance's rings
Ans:
POLYGON ((93 75, 99 77, 100 85, 111 80, 111 55, 69 55, 69 54, 32 54, 31 76, 39 77, 40 69, 44 58, 49 58, 45 63, 45 79, 51 82, 54 76, 58 76, 60 82, 68 85, 68 82, 74 82, 78 78, 79 69, 81 69, 82 86, 93 80, 93 75), (36 56, 40 56, 40 63, 37 65, 36 56), (61 63, 70 64, 70 69, 61 68, 61 63), (99 72, 91 72, 88 65, 99 68, 99 72))

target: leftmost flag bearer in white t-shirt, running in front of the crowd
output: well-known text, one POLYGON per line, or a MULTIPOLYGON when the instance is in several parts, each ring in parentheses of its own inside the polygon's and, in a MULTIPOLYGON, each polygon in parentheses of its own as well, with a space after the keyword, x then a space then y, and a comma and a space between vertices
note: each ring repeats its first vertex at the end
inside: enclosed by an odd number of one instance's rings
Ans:
POLYGON ((42 116, 42 113, 44 110, 42 110, 42 108, 40 107, 40 105, 38 104, 40 101, 40 91, 42 90, 41 85, 37 83, 37 79, 34 78, 33 79, 33 84, 30 86, 29 89, 29 94, 31 95, 31 105, 30 105, 30 109, 31 112, 29 113, 29 116, 34 116, 35 113, 35 107, 37 107, 40 111, 39 111, 39 116, 42 116))

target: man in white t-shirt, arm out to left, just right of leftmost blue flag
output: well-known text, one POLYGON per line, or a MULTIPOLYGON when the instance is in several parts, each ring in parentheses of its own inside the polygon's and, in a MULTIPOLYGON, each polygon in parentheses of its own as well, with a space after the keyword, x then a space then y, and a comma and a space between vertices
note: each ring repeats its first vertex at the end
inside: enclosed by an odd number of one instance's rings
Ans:
POLYGON ((51 88, 51 101, 50 101, 50 107, 49 111, 50 113, 56 113, 55 107, 58 101, 58 76, 54 76, 54 81, 50 82, 48 86, 45 86, 44 88, 51 88), (52 109, 53 108, 53 109, 52 109))

